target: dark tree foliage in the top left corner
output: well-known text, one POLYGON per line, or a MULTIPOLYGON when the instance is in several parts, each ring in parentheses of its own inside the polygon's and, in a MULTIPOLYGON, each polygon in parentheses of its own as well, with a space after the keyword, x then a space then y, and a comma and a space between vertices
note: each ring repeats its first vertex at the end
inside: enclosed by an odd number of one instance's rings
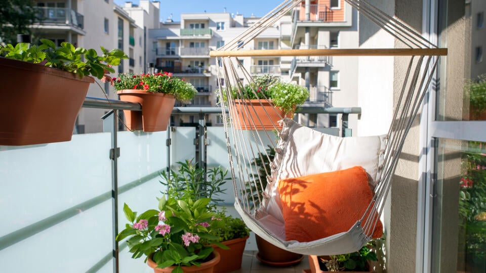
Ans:
POLYGON ((17 34, 32 35, 30 26, 40 21, 33 0, 2 0, 0 5, 0 39, 2 43, 17 42, 17 34))

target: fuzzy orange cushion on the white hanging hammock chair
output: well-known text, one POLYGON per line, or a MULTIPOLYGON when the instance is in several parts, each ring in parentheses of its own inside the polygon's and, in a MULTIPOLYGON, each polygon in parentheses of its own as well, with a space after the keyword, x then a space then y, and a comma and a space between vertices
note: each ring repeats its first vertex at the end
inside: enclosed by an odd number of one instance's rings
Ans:
MULTIPOLYGON (((298 242, 347 232, 363 216, 373 198, 368 174, 361 166, 282 179, 278 191, 286 239, 298 242)), ((373 238, 382 234, 383 225, 378 220, 373 238)))

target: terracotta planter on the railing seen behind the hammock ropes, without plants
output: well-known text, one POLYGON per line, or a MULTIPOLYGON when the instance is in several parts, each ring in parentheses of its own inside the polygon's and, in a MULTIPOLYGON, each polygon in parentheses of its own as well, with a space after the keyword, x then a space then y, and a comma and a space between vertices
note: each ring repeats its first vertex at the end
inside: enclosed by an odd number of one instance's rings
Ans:
POLYGON ((234 100, 231 105, 234 114, 234 126, 241 130, 281 130, 278 121, 284 117, 292 118, 294 113, 284 115, 275 108, 271 101, 266 100, 234 100), (253 122, 252 122, 253 121, 253 122))

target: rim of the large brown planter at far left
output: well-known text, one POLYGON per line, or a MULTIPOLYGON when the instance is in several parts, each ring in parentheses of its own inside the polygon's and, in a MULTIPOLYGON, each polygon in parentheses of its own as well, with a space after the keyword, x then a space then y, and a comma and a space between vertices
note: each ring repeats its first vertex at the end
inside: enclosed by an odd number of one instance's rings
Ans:
POLYGON ((24 61, 19 61, 15 59, 10 59, 6 57, 0 57, 0 66, 6 66, 6 67, 11 67, 11 68, 16 68, 16 69, 23 69, 27 70, 29 73, 46 73, 46 74, 52 74, 55 76, 59 77, 65 77, 69 79, 77 79, 80 81, 86 81, 93 83, 95 82, 95 79, 91 76, 84 76, 82 78, 79 78, 76 74, 64 71, 58 68, 53 68, 53 67, 48 67, 45 65, 41 64, 34 64, 34 63, 29 63, 29 62, 24 62, 24 61))

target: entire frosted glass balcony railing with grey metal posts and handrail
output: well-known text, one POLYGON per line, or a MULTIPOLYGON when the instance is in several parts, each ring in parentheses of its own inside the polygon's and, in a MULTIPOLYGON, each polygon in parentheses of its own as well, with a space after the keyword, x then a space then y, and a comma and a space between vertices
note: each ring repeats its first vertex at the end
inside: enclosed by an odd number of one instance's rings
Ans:
MULTIPOLYGON (((70 142, 0 146, 0 215, 12 223, 0 225, 3 272, 64 272, 69 264, 83 272, 147 271, 142 259, 132 260, 126 243, 114 240, 127 223, 123 204, 137 211, 156 208, 155 197, 166 190, 159 173, 176 162, 229 168, 224 128, 205 123, 220 107, 175 108, 172 120, 189 114, 195 126, 151 133, 119 131, 113 118, 121 110, 141 111, 139 104, 87 98, 83 107, 109 111, 105 132, 73 135, 70 142), (198 145, 203 143, 208 145, 198 145), (26 246, 35 253, 29 262, 26 246)), ((358 110, 302 107, 301 113, 358 110)), ((221 198, 222 205, 234 203, 231 191, 221 198)))

